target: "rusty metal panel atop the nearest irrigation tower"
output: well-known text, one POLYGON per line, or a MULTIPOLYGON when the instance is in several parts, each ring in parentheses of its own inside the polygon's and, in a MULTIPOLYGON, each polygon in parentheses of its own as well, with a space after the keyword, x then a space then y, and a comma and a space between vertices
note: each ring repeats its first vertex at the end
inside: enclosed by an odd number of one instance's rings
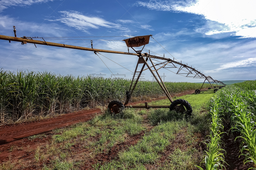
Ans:
POLYGON ((144 35, 144 36, 137 36, 125 39, 127 47, 140 47, 143 45, 148 44, 150 35, 144 35))

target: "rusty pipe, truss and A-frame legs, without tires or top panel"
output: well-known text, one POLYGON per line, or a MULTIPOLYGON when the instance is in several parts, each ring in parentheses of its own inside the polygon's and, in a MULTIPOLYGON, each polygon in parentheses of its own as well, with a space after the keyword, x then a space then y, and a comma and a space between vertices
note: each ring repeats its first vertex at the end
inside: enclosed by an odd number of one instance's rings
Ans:
MULTIPOLYGON (((15 33, 15 32, 14 32, 15 33)), ((148 35, 151 36, 151 35, 148 35)), ((134 37, 136 38, 136 37, 134 37)), ((170 105, 168 106, 148 106, 148 103, 145 103, 145 106, 130 106, 127 105, 129 103, 129 100, 131 98, 131 95, 140 79, 141 73, 145 70, 149 70, 151 72, 151 74, 154 76, 154 78, 156 79, 157 83, 160 85, 160 87, 162 88, 162 90, 164 91, 164 93, 166 94, 167 98, 170 100, 170 102, 172 103, 172 97, 169 94, 166 86, 164 85, 164 81, 162 80, 161 76, 158 73, 158 70, 160 69, 166 69, 169 70, 175 74, 179 74, 181 76, 184 77, 190 77, 190 78, 205 78, 205 81, 208 81, 210 83, 210 85, 212 86, 213 91, 216 89, 216 86, 213 86, 214 83, 217 85, 217 87, 222 87, 225 86, 224 83, 222 83, 221 81, 218 80, 214 80, 212 79, 210 76, 205 76, 203 73, 201 73, 200 71, 196 70, 195 68, 193 68, 192 66, 188 66, 188 64, 182 64, 181 62, 177 62, 170 59, 170 58, 164 58, 164 57, 160 57, 160 56, 156 56, 156 55, 150 55, 148 53, 144 53, 142 54, 141 51, 135 51, 133 48, 133 50, 136 53, 127 53, 127 52, 121 52, 121 51, 111 51, 111 50, 103 50, 103 49, 95 49, 95 48, 85 48, 85 47, 78 47, 78 46, 71 46, 71 45, 66 45, 66 44, 59 44, 59 43, 53 43, 53 42, 46 42, 44 41, 38 41, 38 40, 33 40, 30 37, 11 37, 11 36, 5 36, 5 35, 0 35, 0 39, 1 40, 7 40, 9 42, 11 41, 18 41, 21 42, 21 44, 27 44, 27 43, 33 43, 33 44, 40 44, 40 45, 47 45, 47 46, 55 46, 55 47, 63 47, 63 48, 72 48, 72 49, 80 49, 80 50, 87 50, 87 51, 93 51, 95 54, 99 53, 99 52, 105 52, 105 53, 115 53, 115 54, 124 54, 124 55, 136 55, 138 56, 138 62, 133 74, 133 78, 132 78, 132 83, 130 85, 129 91, 126 91, 126 101, 124 103, 124 106, 120 106, 120 102, 117 103, 117 107, 134 107, 134 108, 170 108, 170 105), (141 66, 142 64, 142 66, 141 66), (139 69, 139 65, 141 66, 139 69), (145 68, 146 67, 146 68, 145 68), (138 71, 139 70, 139 71, 138 71), (138 74, 139 73, 139 74, 138 74), (137 79, 135 80, 135 75, 138 75, 137 79)), ((138 39, 138 37, 137 37, 138 39)), ((143 44, 145 46, 145 44, 143 44)), ((138 47, 138 46, 134 46, 134 47, 138 47)), ((143 47, 144 48, 144 47, 143 47)), ((143 49, 142 48, 142 49, 143 49)), ((202 85, 203 87, 203 85, 202 85)), ((201 89, 202 89, 201 87, 201 89)), ((197 89, 199 90, 199 92, 201 91, 201 89, 197 89)), ((209 89, 210 90, 210 89, 209 89)), ((190 104, 189 104, 190 106, 190 104)), ((115 110, 117 110, 116 112, 119 113, 118 108, 115 105, 115 110), (116 109, 117 108, 117 109, 116 109)), ((114 108, 114 107, 113 107, 114 108)), ((191 112, 192 112, 192 108, 191 108, 191 112)))

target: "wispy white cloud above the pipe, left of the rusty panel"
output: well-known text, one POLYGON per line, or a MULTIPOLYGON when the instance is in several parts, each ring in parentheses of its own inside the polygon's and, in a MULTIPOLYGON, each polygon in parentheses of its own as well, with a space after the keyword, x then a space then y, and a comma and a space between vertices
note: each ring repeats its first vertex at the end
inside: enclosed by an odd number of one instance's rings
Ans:
POLYGON ((60 21, 67 26, 74 27, 78 30, 89 33, 89 29, 99 29, 100 27, 114 28, 120 30, 127 30, 127 28, 122 27, 120 24, 112 23, 106 21, 100 17, 86 16, 77 11, 60 11, 61 18, 49 21, 60 21))

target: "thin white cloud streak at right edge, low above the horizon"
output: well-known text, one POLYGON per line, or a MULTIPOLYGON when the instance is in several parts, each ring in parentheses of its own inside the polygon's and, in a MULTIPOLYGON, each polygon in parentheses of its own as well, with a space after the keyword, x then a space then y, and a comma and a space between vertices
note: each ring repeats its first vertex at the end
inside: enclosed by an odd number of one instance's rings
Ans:
POLYGON ((250 66, 256 66, 256 57, 248 58, 246 60, 241 60, 236 62, 225 63, 221 65, 220 68, 216 69, 216 71, 230 69, 230 68, 238 68, 238 67, 250 67, 250 66))

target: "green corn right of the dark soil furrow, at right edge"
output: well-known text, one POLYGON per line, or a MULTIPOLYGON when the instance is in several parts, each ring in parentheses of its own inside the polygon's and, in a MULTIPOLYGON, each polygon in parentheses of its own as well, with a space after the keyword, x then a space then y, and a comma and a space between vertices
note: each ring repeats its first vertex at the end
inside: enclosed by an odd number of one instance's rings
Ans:
POLYGON ((249 169, 256 169, 256 124, 255 124, 255 90, 254 86, 256 81, 246 81, 239 83, 239 85, 231 85, 224 90, 219 91, 215 98, 222 98, 223 112, 226 114, 226 118, 230 119, 232 124, 232 131, 240 132, 242 138, 242 149, 240 150, 240 156, 245 156, 244 164, 253 162, 254 167, 249 169), (251 86, 252 85, 252 86, 251 86), (251 87, 248 87, 251 86, 251 87))

